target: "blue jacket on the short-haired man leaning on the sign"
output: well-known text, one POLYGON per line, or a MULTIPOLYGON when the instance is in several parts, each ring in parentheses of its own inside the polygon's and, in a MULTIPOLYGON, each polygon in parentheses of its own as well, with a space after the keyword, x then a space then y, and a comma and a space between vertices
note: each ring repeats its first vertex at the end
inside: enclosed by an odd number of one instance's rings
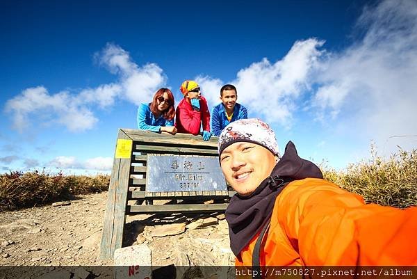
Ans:
MULTIPOLYGON (((239 119, 247 119, 247 109, 245 106, 236 103, 230 122, 239 119)), ((211 113, 211 134, 213 134, 213 136, 220 136, 224 127, 230 122, 227 120, 226 109, 224 109, 223 103, 218 104, 213 108, 213 112, 211 113)))

